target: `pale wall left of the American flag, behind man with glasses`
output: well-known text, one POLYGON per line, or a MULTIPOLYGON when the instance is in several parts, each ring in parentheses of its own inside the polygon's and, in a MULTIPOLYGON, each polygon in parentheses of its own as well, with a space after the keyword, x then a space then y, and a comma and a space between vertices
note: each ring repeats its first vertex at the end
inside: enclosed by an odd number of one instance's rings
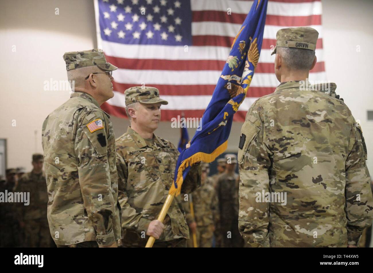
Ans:
POLYGON ((41 125, 69 98, 66 91, 44 91, 44 81, 66 80, 63 53, 94 48, 94 37, 91 1, 1 1, 0 138, 7 139, 8 168, 30 171, 32 153, 43 152, 41 125))

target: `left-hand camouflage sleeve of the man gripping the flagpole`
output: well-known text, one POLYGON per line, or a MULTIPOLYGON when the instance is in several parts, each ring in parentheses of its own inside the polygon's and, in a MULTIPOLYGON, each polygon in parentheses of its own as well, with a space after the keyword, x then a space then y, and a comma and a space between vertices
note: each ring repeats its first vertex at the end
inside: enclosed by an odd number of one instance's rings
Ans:
POLYGON ((147 231, 149 223, 148 219, 142 218, 142 213, 138 213, 136 209, 128 204, 128 195, 126 192, 128 179, 128 164, 125 157, 120 155, 121 151, 117 150, 116 164, 118 172, 118 200, 122 209, 122 229, 132 229, 139 234, 142 231, 147 231))

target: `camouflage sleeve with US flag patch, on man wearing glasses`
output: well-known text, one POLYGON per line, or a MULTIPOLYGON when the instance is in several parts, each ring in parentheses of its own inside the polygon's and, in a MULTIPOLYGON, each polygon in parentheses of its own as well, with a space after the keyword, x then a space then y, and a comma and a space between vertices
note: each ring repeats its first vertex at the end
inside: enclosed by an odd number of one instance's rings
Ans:
POLYGON ((107 136, 103 112, 91 109, 78 118, 75 154, 78 157, 79 184, 84 208, 93 222, 99 246, 115 242, 113 221, 115 217, 114 197, 111 191, 109 162, 107 158, 107 136), (91 132, 87 125, 101 120, 103 127, 91 132))

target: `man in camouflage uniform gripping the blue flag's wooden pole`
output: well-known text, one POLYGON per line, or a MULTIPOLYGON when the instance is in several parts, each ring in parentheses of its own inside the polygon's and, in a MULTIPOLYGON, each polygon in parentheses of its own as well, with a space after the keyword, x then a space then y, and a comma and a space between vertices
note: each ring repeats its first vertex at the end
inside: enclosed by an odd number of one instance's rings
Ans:
MULTIPOLYGON (((153 134, 160 121, 159 98, 152 87, 125 91, 131 126, 116 140, 119 203, 122 208, 122 247, 144 247, 148 236, 153 247, 186 247, 189 230, 181 196, 175 197, 163 223, 157 220, 175 176, 178 149, 153 134)), ((191 167, 182 184, 189 193, 201 183, 200 164, 191 167)))

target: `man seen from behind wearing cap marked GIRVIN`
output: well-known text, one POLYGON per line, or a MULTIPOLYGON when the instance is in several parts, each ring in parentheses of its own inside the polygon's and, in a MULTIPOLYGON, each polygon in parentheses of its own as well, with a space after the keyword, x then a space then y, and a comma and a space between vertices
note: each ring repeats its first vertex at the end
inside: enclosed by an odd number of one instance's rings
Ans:
POLYGON ((333 92, 305 85, 317 31, 276 37, 281 83, 251 106, 241 130, 239 230, 251 247, 355 247, 373 212, 360 125, 333 92))

